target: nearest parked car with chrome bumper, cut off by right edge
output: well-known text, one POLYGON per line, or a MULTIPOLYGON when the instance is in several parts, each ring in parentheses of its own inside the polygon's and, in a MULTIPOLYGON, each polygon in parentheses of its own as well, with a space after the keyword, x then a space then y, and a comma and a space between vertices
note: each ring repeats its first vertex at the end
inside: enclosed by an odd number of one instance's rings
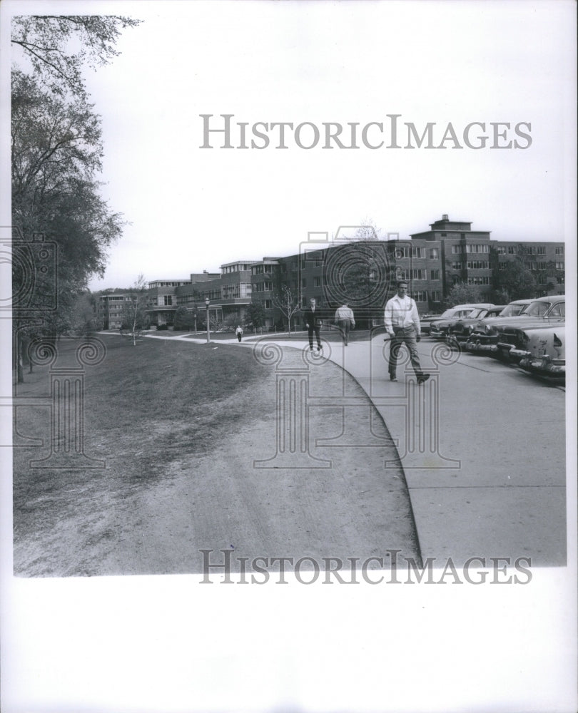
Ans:
POLYGON ((566 327, 560 323, 541 329, 523 329, 520 342, 509 354, 522 369, 544 376, 566 375, 566 327))

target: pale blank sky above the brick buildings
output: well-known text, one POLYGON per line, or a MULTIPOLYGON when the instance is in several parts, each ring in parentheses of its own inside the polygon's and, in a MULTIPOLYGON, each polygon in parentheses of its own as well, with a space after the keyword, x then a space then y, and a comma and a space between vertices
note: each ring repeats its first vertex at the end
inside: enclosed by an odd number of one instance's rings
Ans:
POLYGON ((92 279, 91 289, 127 287, 141 273, 148 280, 184 279, 218 271, 224 262, 290 255, 309 232, 333 235, 340 225, 367 219, 384 237, 407 238, 444 213, 490 230, 496 240, 569 237, 572 4, 81 6, 143 20, 124 31, 121 56, 87 73, 103 122, 103 194, 127 221, 106 275, 92 279), (223 113, 247 122, 248 130, 275 121, 311 122, 322 131, 324 122, 387 126, 395 113, 400 126, 414 123, 420 135, 435 123, 434 145, 447 123, 461 142, 470 122, 486 123, 490 135, 490 123, 509 122, 508 140, 524 122, 532 143, 308 150, 289 141, 280 150, 271 133, 264 150, 218 148, 218 135, 211 138, 215 148, 200 148, 200 115, 219 120, 223 113))

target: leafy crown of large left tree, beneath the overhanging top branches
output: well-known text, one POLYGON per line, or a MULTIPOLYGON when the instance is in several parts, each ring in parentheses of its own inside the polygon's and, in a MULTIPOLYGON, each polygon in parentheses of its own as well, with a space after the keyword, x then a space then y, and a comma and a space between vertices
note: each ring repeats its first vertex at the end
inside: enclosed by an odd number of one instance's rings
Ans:
POLYGON ((83 287, 93 273, 103 274, 123 226, 98 195, 100 118, 90 105, 54 98, 18 71, 12 96, 13 226, 24 240, 41 233, 56 242, 59 282, 83 287))

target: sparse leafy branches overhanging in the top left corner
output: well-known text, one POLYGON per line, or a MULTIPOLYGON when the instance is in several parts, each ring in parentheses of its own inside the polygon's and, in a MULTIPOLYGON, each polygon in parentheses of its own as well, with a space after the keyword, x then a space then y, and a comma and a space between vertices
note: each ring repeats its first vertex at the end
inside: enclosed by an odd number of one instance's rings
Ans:
POLYGON ((120 54, 115 44, 121 31, 138 24, 141 20, 112 15, 16 16, 11 42, 52 93, 85 98, 83 66, 96 69, 111 62, 120 54), (75 44, 79 49, 71 52, 75 44))

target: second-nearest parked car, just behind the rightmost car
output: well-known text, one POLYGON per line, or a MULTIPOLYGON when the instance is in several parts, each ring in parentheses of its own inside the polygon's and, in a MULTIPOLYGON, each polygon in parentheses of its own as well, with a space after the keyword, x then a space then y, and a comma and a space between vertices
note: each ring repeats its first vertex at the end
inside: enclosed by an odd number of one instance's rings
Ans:
POLYGON ((465 348, 469 352, 507 356, 512 347, 519 346, 519 330, 547 327, 552 322, 564 322, 563 294, 533 299, 516 317, 480 319, 472 329, 465 348))

